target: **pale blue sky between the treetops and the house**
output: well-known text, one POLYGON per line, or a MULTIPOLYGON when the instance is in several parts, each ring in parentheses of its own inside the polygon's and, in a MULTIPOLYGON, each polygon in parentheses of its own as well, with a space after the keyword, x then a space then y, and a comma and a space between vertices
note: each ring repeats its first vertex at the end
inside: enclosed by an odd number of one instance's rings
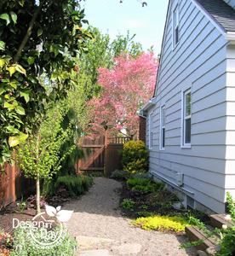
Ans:
POLYGON ((102 33, 108 32, 112 39, 118 33, 135 36, 135 42, 143 49, 153 45, 154 52, 160 53, 168 0, 145 0, 147 6, 141 7, 137 0, 86 0, 81 2, 89 24, 102 33))

